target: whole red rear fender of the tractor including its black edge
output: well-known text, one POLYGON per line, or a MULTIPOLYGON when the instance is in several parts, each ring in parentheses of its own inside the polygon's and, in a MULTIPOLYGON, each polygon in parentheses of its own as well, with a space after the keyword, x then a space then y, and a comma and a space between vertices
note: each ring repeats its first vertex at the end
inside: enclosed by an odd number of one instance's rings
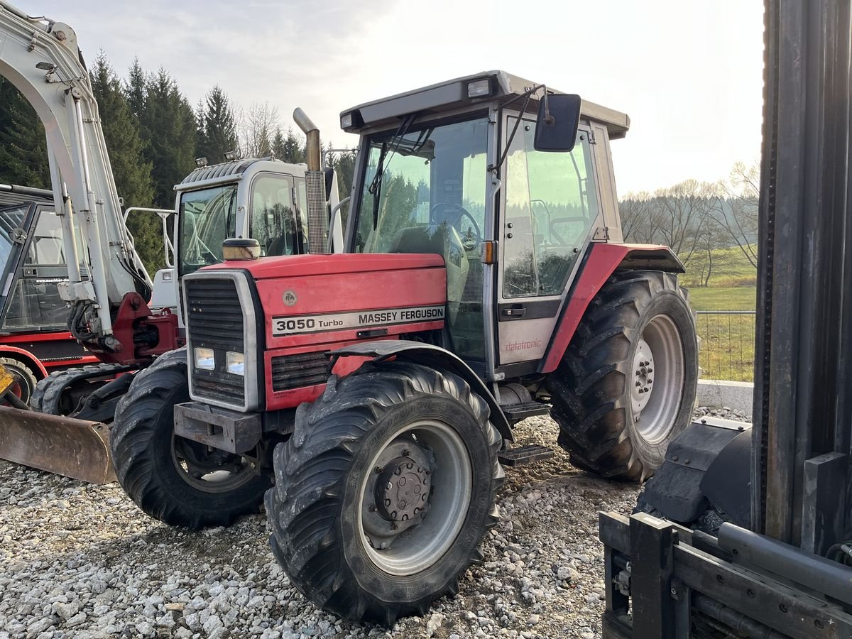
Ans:
POLYGON ((565 354, 574 331, 592 299, 616 271, 648 270, 686 273, 682 262, 668 246, 642 244, 591 244, 586 252, 579 276, 568 293, 568 303, 556 324, 550 346, 538 371, 550 373, 565 354))

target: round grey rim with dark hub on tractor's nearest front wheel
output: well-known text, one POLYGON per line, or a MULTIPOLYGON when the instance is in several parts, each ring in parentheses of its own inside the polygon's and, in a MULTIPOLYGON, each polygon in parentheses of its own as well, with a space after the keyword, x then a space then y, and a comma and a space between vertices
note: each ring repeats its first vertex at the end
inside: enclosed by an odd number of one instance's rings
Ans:
POLYGON ((435 564, 470 504, 473 469, 462 438, 446 423, 418 420, 390 435, 368 468, 356 512, 366 555, 397 576, 435 564))

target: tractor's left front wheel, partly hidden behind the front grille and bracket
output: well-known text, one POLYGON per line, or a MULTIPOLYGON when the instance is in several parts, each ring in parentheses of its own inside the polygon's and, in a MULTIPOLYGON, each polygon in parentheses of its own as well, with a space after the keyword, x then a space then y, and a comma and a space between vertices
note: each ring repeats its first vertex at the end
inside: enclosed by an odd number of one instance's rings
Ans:
POLYGON ((175 435, 173 407, 186 401, 186 348, 136 374, 110 434, 118 483, 148 515, 171 526, 227 526, 258 512, 267 477, 238 455, 175 435))

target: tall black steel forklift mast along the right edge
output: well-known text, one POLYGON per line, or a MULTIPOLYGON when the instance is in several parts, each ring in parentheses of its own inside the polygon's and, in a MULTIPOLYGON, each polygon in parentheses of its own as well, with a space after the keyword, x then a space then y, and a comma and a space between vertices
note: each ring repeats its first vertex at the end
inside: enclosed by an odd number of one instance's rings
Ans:
POLYGON ((818 554, 852 526, 849 20, 766 3, 751 521, 818 554))

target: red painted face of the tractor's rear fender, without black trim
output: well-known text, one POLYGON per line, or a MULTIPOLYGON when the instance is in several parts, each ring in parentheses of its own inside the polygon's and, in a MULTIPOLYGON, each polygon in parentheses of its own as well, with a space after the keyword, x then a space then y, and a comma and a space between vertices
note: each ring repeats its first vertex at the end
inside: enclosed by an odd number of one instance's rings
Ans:
POLYGON ((580 320, 583 319, 586 308, 589 308, 592 298, 601 290, 602 285, 615 272, 615 269, 619 267, 619 264, 625 257, 629 256, 631 252, 639 250, 661 250, 671 254, 671 249, 664 245, 591 245, 589 259, 586 260, 583 270, 579 273, 577 284, 574 285, 567 308, 562 314, 559 325, 556 328, 556 335, 554 335, 553 340, 550 342, 550 348, 544 354, 544 361, 538 369, 540 372, 549 373, 556 371, 556 366, 559 366, 562 355, 565 354, 568 344, 571 343, 574 331, 577 330, 577 326, 580 320))

